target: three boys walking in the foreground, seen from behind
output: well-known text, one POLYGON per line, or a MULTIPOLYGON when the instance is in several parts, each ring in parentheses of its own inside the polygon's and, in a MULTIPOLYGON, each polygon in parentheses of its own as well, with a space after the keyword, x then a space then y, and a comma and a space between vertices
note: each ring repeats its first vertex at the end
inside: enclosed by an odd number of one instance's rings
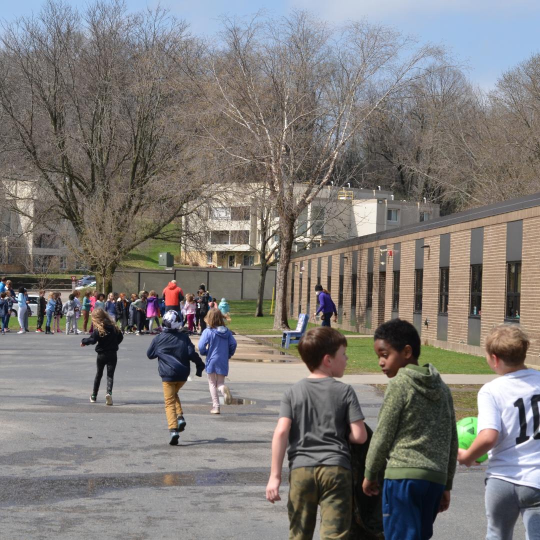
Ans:
MULTIPOLYGON (((321 539, 349 537, 355 515, 349 443, 365 444, 368 435, 354 390, 333 379, 344 373, 346 347, 338 330, 308 330, 298 350, 311 375, 281 400, 266 498, 280 500, 287 449, 289 540, 313 537, 318 505, 321 539)), ((487 540, 511 540, 520 513, 527 539, 540 539, 540 372, 525 365, 528 347, 517 325, 489 332, 487 362, 501 377, 478 393, 478 435, 464 450, 450 389, 433 365, 419 366, 414 326, 394 319, 377 328, 374 349, 389 382, 360 474, 368 497, 380 496, 384 476, 386 540, 431 538, 437 514, 449 508, 457 461, 470 467, 486 452, 487 540)))

